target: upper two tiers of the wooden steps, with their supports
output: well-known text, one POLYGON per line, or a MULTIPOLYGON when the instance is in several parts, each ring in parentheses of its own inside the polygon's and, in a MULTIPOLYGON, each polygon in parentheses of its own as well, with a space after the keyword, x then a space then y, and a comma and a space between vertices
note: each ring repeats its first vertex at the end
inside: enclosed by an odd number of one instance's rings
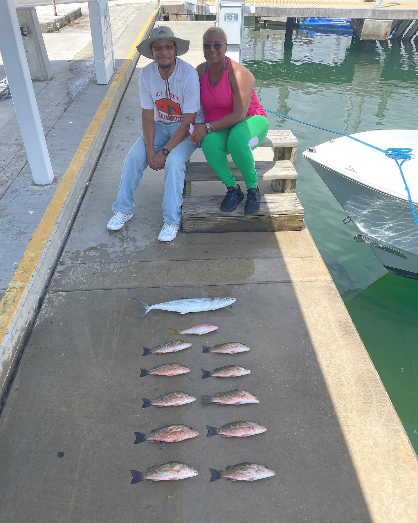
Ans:
MULTIPOLYGON (((271 180, 275 192, 295 192, 297 173, 295 161, 297 153, 297 139, 292 131, 269 131, 259 147, 272 147, 272 161, 257 161, 256 170, 261 180, 271 180)), ((233 162, 229 163, 231 172, 237 181, 243 177, 233 162)), ((219 178, 206 162, 188 162, 184 173, 183 195, 191 196, 193 181, 218 181, 219 178)))

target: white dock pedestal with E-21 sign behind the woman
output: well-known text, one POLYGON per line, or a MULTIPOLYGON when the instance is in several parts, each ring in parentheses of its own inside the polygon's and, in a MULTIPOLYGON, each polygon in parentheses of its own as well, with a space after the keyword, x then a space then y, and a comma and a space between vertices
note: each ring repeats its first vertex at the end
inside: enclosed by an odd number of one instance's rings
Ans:
POLYGON ((228 38, 226 55, 241 63, 241 41, 244 27, 245 0, 218 0, 216 25, 222 28, 228 38))

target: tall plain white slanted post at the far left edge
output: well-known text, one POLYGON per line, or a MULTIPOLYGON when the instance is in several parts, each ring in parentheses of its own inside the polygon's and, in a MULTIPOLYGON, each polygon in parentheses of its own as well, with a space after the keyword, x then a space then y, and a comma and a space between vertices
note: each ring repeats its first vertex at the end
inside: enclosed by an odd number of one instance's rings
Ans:
POLYGON ((50 184, 54 178, 51 159, 43 134, 13 0, 2 2, 0 51, 33 181, 39 185, 50 184))

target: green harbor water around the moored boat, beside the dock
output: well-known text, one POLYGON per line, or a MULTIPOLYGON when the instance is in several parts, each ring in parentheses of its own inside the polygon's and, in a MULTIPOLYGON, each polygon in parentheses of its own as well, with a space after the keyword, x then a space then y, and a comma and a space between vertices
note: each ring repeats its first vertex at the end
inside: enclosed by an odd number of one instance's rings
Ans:
MULTIPOLYGON (((242 61, 264 107, 322 127, 355 133, 418 128, 418 50, 411 43, 354 42, 350 34, 254 27, 246 18, 242 61)), ((389 274, 353 241, 344 210, 301 157, 335 135, 269 114, 271 129, 299 141, 297 194, 305 221, 368 354, 418 453, 418 281, 389 274)), ((417 173, 418 176, 418 173, 417 173)))

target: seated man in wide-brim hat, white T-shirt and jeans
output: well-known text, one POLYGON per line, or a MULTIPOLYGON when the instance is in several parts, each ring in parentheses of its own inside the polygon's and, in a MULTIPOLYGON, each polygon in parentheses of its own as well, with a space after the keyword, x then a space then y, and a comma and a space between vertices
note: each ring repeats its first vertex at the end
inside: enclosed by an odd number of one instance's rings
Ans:
POLYGON ((165 169, 164 226, 158 240, 169 242, 180 229, 185 162, 196 149, 189 140, 189 123, 204 122, 199 76, 177 58, 187 53, 189 41, 175 37, 169 27, 154 27, 137 49, 154 60, 143 67, 139 78, 143 134, 125 158, 108 229, 122 229, 133 217, 134 191, 148 165, 156 171, 165 169))

